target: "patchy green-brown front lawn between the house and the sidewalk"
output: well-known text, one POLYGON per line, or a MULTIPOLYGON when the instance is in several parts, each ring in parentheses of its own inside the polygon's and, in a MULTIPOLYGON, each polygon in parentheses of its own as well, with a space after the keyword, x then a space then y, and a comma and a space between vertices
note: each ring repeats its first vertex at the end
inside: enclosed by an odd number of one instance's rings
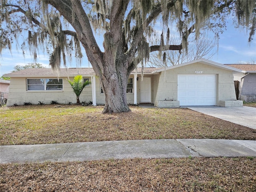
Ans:
POLYGON ((102 114, 102 106, 0 108, 0 144, 212 138, 256 140, 256 130, 186 108, 140 108, 102 114))

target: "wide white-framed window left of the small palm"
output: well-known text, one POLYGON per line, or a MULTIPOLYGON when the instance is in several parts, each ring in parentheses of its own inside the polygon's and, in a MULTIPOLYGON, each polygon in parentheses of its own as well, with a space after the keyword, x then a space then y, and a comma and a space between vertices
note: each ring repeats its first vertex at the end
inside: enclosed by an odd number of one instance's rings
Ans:
POLYGON ((27 79, 27 90, 63 90, 62 79, 27 79))

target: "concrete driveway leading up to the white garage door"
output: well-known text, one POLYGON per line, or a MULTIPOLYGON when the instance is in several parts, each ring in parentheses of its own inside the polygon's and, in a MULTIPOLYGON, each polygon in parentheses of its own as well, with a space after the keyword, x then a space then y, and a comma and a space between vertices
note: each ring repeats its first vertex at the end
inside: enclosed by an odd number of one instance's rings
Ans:
POLYGON ((187 108, 235 124, 256 129, 256 108, 254 107, 190 106, 187 108))

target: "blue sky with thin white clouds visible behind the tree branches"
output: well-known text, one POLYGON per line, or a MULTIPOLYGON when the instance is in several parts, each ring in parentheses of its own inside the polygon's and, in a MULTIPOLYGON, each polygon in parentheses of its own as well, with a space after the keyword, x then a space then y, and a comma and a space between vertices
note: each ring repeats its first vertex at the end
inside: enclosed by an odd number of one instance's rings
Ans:
MULTIPOLYGON (((227 30, 220 34, 218 53, 211 60, 222 64, 236 64, 252 60, 256 62, 256 37, 254 37, 250 45, 248 44, 248 37, 249 34, 246 33, 246 30, 228 26, 227 30)), ((98 37, 98 40, 98 44, 102 45, 102 38, 98 37)), ((84 49, 83 55, 81 67, 90 67, 84 49)), ((15 46, 13 46, 12 55, 8 50, 4 50, 0 57, 0 76, 12 72, 16 65, 26 65, 31 62, 33 62, 33 59, 30 57, 30 54, 26 54, 24 58, 22 51, 17 51, 15 46)), ((38 56, 37 62, 45 67, 49 67, 49 56, 41 54, 38 56)), ((76 60, 73 59, 72 64, 67 64, 67 67, 76 67, 76 60)))

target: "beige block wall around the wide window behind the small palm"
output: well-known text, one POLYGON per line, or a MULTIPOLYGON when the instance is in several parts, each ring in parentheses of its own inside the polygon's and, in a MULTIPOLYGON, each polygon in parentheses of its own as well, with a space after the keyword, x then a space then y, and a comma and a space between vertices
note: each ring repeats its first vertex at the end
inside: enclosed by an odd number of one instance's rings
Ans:
MULTIPOLYGON (((13 104, 23 105, 24 102, 38 104, 38 101, 44 102, 45 104, 50 104, 52 101, 56 101, 59 104, 68 104, 68 102, 76 103, 76 94, 74 94, 72 87, 66 80, 66 77, 59 78, 63 79, 63 90, 27 91, 26 78, 12 77, 10 82, 7 106, 12 106, 13 104)), ((74 79, 73 77, 69 78, 70 80, 74 79)), ((89 78, 91 80, 90 77, 84 76, 84 78, 89 78)), ((80 95, 80 102, 82 101, 92 101, 92 85, 90 85, 89 87, 85 87, 82 91, 80 95)))

